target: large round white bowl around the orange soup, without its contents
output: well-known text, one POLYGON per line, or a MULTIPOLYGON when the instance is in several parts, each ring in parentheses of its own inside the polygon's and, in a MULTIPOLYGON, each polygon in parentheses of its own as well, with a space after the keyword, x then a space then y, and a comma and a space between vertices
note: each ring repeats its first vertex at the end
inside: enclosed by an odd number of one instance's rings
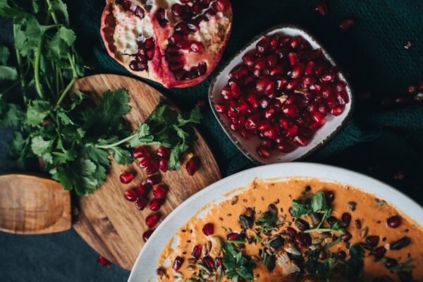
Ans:
MULTIPOLYGON (((197 212, 210 203, 218 203, 226 199, 230 199, 234 194, 238 194, 243 190, 235 190, 235 188, 245 188, 254 178, 272 178, 274 180, 283 180, 288 177, 300 178, 319 178, 319 180, 331 183, 345 183, 355 188, 359 188, 364 192, 376 195, 379 199, 392 204, 396 209, 403 212, 410 218, 414 219, 423 226, 423 208, 409 197, 398 192, 391 186, 381 183, 378 180, 364 176, 360 173, 348 171, 343 168, 334 166, 326 166, 323 164, 310 163, 288 163, 288 164, 271 164, 267 166, 259 166, 235 173, 233 176, 223 178, 207 188, 204 188, 188 200, 185 200, 177 207, 160 226, 154 231, 153 235, 144 248, 133 266, 128 281, 129 282, 147 282, 157 281, 156 269, 158 267, 159 257, 169 240, 174 237, 178 229, 192 218, 197 212), (278 179, 276 179, 278 178, 278 179), (233 191, 232 193, 230 193, 233 191), (225 195, 226 193, 230 195, 225 195), (223 196, 225 195, 225 196, 223 196)), ((204 209, 197 216, 203 216, 208 209, 204 209)), ((174 240, 177 242, 177 240, 174 240)))

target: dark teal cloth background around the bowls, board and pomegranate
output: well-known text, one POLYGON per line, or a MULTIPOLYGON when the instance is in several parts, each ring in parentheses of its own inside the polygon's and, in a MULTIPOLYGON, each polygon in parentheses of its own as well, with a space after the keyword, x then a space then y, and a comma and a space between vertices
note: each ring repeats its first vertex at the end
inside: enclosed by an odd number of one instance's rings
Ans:
MULTIPOLYGON (((423 1, 333 0, 328 16, 314 11, 317 1, 231 1, 233 31, 221 65, 240 47, 269 27, 281 23, 309 30, 347 73, 355 90, 356 109, 345 128, 305 161, 360 171, 393 185, 423 204, 423 104, 381 109, 381 97, 397 97, 408 84, 423 80, 423 1), (340 32, 338 23, 354 18, 355 26, 340 32), (404 45, 412 41, 408 50, 404 45), (363 92, 372 99, 362 100, 363 92), (403 179, 399 180, 398 176, 403 179)), ((78 49, 95 68, 92 73, 123 73, 106 55, 99 36, 104 1, 69 0, 78 49)), ((0 43, 11 44, 10 23, 0 20, 0 43)), ((209 80, 195 87, 164 90, 182 109, 207 97, 209 80)), ((219 161, 223 176, 253 166, 228 140, 210 109, 200 125, 219 161)), ((13 169, 4 161, 10 133, 1 130, 0 171, 13 169)), ((423 216, 423 215, 422 215, 423 216)), ((142 232, 142 231, 134 231, 142 232)), ((0 281, 126 281, 129 272, 97 264, 97 254, 75 233, 37 236, 0 233, 0 281)))

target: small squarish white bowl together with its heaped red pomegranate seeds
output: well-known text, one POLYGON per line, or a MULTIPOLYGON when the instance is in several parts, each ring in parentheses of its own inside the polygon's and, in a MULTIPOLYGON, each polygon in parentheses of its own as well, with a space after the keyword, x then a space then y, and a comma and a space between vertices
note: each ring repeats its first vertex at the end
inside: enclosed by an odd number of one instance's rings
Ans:
POLYGON ((353 95, 312 35, 278 25, 247 44, 214 78, 209 102, 223 130, 261 164, 307 156, 350 116, 353 95))

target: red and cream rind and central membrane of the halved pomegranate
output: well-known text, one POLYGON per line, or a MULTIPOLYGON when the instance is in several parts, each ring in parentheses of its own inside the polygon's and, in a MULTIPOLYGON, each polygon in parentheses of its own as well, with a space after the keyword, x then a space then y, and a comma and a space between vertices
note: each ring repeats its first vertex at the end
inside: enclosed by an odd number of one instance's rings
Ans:
POLYGON ((219 51, 214 52, 214 57, 211 60, 207 61, 207 63, 209 64, 207 65, 206 73, 204 73, 204 75, 200 75, 200 77, 195 79, 176 80, 173 76, 173 73, 171 73, 168 68, 168 63, 165 59, 164 49, 161 48, 163 46, 160 47, 160 44, 163 45, 163 42, 166 42, 167 44, 167 39, 171 35, 171 28, 169 26, 160 27, 157 19, 154 18, 154 15, 145 11, 145 15, 151 18, 154 29, 153 37, 154 41, 156 42, 156 46, 154 47, 154 58, 152 59, 152 61, 148 62, 148 71, 133 71, 129 67, 129 63, 123 61, 121 54, 119 54, 114 44, 114 31, 116 27, 116 18, 113 14, 114 5, 116 5, 115 0, 106 0, 106 6, 104 6, 100 24, 100 35, 102 36, 104 47, 106 48, 107 53, 133 75, 136 75, 140 78, 147 78, 149 80, 159 82, 166 88, 190 87, 206 80, 219 63, 221 56, 223 55, 223 51, 226 48, 226 44, 228 44, 229 37, 231 36, 233 12, 231 3, 227 1, 227 7, 224 11, 224 16, 228 18, 228 24, 226 25, 226 29, 224 30, 224 34, 222 37, 223 40, 221 41, 219 51))

